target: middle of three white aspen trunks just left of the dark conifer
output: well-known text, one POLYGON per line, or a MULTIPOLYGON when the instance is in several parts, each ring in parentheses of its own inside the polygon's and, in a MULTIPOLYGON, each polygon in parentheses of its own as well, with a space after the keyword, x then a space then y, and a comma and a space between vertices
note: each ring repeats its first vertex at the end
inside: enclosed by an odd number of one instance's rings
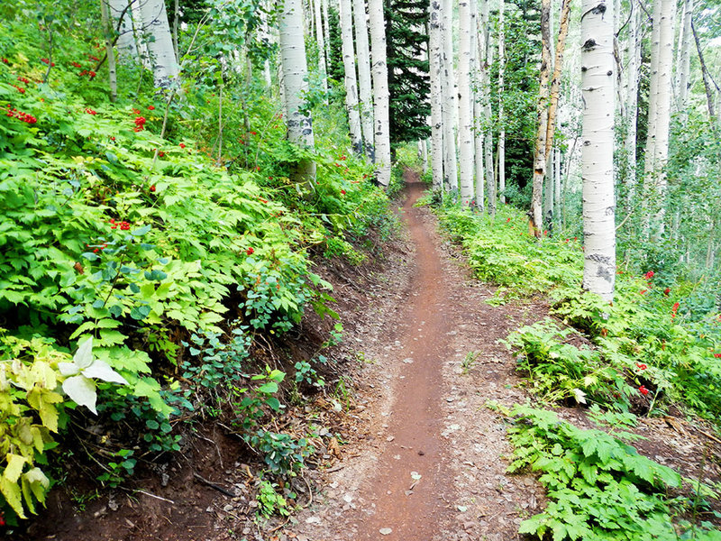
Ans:
POLYGON ((358 87, 360 97, 360 129, 363 149, 371 161, 375 160, 373 145, 373 95, 370 83, 370 50, 365 0, 353 0, 356 56, 358 58, 358 87))

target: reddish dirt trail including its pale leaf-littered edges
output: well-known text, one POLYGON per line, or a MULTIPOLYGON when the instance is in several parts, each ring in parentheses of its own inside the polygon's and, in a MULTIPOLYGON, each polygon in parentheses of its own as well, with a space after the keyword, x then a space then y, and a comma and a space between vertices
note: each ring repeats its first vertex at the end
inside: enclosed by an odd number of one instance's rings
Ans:
POLYGON ((415 251, 406 290, 400 307, 379 307, 385 323, 361 346, 370 360, 358 423, 367 441, 332 468, 324 499, 301 513, 290 539, 516 539, 541 499, 533 479, 505 474, 505 427, 484 404, 523 401, 497 341, 543 307, 484 303, 493 290, 470 279, 430 211, 413 207, 424 191, 417 176, 406 181, 415 251))

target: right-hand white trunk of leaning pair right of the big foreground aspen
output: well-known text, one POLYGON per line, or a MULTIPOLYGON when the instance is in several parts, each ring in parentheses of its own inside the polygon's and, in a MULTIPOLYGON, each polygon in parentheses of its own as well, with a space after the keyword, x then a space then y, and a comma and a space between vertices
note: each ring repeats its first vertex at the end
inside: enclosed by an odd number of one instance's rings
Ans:
POLYGON ((669 158, 671 130, 671 74, 673 69, 673 23, 676 15, 674 0, 662 0, 659 28, 658 93, 656 96, 656 134, 653 144, 653 238, 663 233, 666 197, 666 161, 669 158))

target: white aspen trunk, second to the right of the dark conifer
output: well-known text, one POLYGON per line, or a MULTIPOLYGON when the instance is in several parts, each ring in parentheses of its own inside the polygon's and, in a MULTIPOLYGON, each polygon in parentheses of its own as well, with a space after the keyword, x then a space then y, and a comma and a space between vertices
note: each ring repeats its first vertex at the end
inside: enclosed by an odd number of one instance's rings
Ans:
POLYGON ((446 188, 458 190, 458 161, 456 160, 457 106, 455 75, 453 73, 452 2, 441 0, 443 44, 443 176, 446 188))

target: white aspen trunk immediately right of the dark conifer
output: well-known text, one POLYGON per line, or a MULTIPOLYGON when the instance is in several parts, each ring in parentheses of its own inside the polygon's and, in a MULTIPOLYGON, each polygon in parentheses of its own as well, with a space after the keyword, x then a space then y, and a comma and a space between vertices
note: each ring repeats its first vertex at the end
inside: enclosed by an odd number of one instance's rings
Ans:
POLYGON ((434 191, 443 189, 443 30, 441 0, 428 6, 428 60, 431 69, 431 171, 434 191))

